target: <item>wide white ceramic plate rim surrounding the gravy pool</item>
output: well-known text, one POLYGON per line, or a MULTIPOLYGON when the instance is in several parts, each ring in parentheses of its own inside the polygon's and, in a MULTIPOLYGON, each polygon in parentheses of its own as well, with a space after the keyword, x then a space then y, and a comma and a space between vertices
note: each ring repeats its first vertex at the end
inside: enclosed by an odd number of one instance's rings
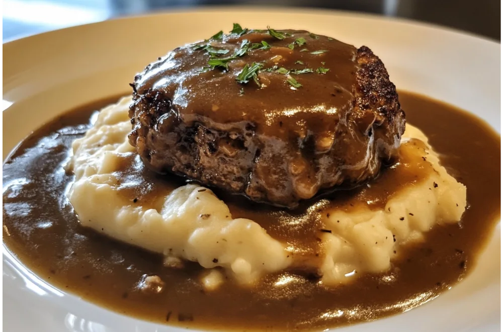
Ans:
MULTIPOLYGON (((176 46, 230 30, 233 22, 250 28, 306 29, 367 45, 399 89, 469 110, 503 131, 501 46, 495 42, 367 15, 219 8, 108 21, 4 44, 3 160, 42 123, 75 106, 129 92, 128 83, 147 63, 176 46)), ((338 331, 501 330, 500 247, 498 224, 476 269, 459 285, 409 312, 338 331)), ((125 317, 56 290, 3 247, 0 278, 2 331, 182 330, 125 317)))

